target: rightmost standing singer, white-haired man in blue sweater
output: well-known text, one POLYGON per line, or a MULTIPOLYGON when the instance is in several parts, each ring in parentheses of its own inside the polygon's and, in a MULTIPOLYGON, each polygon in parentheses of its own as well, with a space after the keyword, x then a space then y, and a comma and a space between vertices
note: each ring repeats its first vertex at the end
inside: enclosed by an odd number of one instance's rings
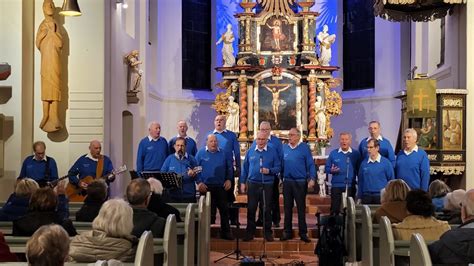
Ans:
POLYGON ((407 128, 403 132, 403 150, 397 154, 395 176, 403 179, 410 189, 428 191, 430 183, 430 161, 426 152, 416 145, 416 130, 407 128))

